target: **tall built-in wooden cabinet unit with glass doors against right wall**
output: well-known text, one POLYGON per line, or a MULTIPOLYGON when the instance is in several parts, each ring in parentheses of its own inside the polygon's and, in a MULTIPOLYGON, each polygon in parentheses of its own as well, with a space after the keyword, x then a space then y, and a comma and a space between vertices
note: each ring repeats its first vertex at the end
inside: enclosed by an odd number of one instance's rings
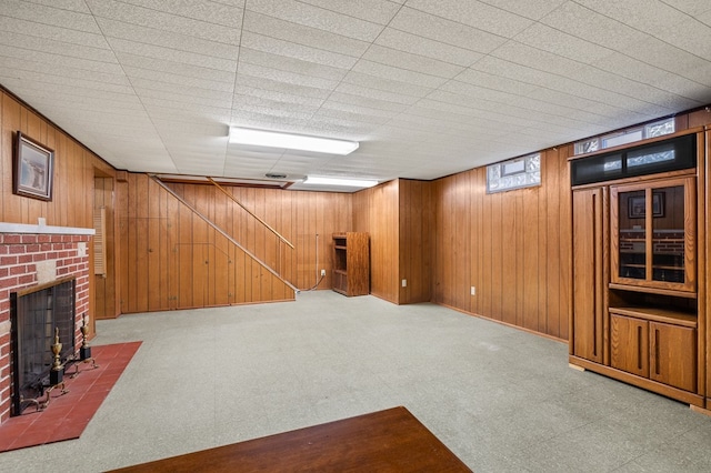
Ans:
MULTIPOLYGON (((695 134, 692 169, 572 187, 569 361, 709 409, 698 243, 705 140, 695 134)), ((644 145, 629 150, 639 155, 644 145)))

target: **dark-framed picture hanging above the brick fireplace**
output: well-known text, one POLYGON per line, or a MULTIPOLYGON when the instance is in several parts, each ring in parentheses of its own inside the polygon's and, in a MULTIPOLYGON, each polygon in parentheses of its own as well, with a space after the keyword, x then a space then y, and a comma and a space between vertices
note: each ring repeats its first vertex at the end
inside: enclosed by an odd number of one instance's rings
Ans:
POLYGON ((14 147, 13 192, 52 200, 54 151, 18 131, 14 147))

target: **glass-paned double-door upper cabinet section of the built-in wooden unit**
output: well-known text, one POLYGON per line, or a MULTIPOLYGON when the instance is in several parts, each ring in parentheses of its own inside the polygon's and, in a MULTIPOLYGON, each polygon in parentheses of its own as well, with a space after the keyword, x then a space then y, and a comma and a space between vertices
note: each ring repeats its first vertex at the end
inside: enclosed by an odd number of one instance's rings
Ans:
POLYGON ((614 284, 695 293, 695 198, 691 177, 610 188, 614 284))

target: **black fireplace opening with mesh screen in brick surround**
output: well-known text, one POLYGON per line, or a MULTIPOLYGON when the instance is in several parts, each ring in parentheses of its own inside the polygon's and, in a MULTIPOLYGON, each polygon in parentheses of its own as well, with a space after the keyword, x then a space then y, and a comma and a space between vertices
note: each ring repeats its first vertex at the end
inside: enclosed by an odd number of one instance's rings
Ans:
POLYGON ((56 330, 61 363, 74 355, 76 280, 66 278, 10 294, 12 323, 12 410, 20 415, 30 400, 50 386, 56 330))

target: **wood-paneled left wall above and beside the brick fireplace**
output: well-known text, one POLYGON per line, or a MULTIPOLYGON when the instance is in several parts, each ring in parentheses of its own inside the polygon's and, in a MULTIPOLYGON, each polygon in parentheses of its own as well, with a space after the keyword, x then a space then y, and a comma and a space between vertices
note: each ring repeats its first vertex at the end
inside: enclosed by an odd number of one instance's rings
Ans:
MULTIPOLYGON (((93 227, 94 172, 113 175, 113 168, 93 152, 58 129, 49 120, 0 88, 0 221, 37 224, 44 218, 48 225, 93 227), (49 202, 12 193, 13 143, 17 131, 54 150, 52 200, 49 202)), ((89 245, 93 261, 92 245, 89 245)), ((91 334, 96 319, 94 280, 89 282, 91 334)))

